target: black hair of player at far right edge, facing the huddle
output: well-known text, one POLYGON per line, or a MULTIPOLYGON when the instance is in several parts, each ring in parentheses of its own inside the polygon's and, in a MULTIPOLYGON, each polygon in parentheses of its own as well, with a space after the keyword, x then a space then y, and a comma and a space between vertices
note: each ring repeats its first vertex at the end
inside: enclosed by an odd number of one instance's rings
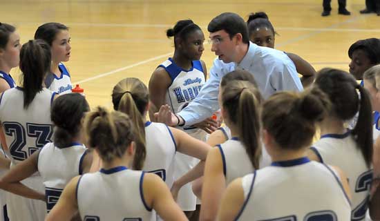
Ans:
POLYGON ((370 59, 371 64, 380 64, 380 39, 370 38, 370 39, 361 39, 348 49, 348 57, 352 59, 352 54, 355 50, 363 50, 370 59))

